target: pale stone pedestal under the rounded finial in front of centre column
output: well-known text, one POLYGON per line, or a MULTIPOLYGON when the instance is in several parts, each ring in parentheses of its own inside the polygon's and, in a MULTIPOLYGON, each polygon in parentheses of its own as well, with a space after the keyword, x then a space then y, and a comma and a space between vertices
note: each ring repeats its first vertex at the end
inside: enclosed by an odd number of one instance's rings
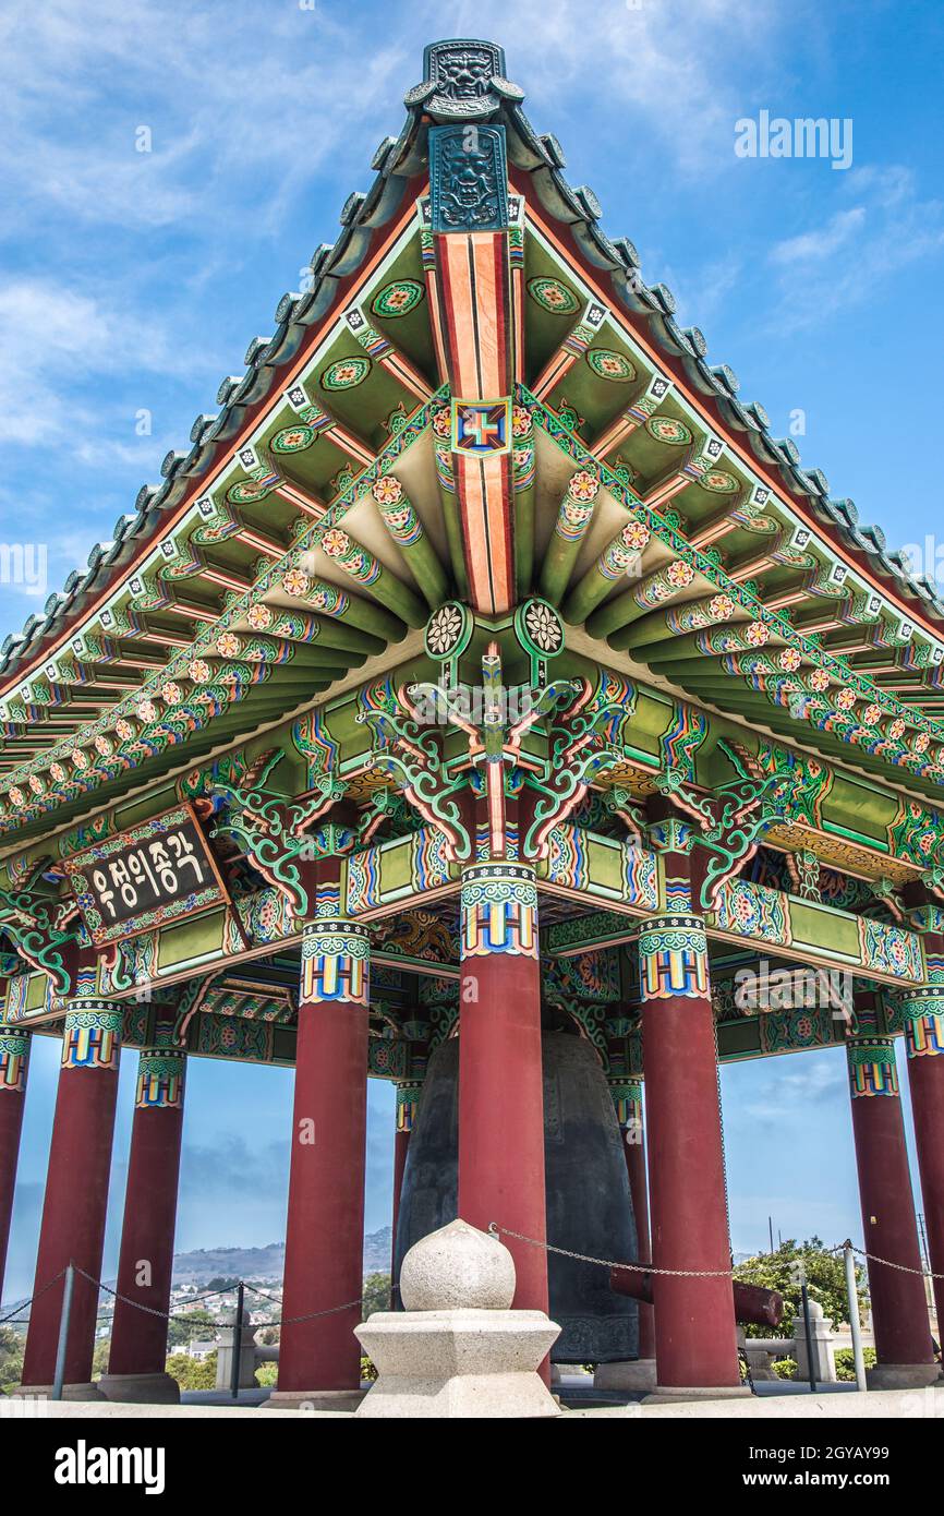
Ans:
POLYGON ((559 1416, 538 1373, 561 1334, 544 1311, 376 1311, 355 1336, 377 1366, 359 1417, 559 1416))

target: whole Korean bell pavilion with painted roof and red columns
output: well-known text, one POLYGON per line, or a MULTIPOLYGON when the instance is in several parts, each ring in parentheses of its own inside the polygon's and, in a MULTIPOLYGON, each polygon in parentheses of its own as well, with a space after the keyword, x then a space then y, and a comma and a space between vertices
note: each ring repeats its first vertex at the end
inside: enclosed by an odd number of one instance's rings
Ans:
POLYGON ((549 1028, 609 1084, 636 1257, 677 1270, 620 1349, 659 1390, 739 1387, 718 1064, 829 1046, 877 1381, 938 1372, 899 1081, 944 1320, 944 602, 564 167, 500 47, 427 47, 305 288, 2 646, 0 1255, 30 1041, 62 1048, 26 1389, 71 1261, 67 1396, 174 1393, 191 1058, 295 1070, 274 1402, 358 1390, 367 1081, 397 1207, 444 1049, 453 1214, 547 1310, 542 1245, 599 1255, 555 1223, 549 1028))

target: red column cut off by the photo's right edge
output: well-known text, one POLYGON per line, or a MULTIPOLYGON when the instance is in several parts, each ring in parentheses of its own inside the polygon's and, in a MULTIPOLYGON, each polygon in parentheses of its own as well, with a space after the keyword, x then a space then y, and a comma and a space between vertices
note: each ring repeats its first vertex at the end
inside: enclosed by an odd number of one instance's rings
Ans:
POLYGON ((944 1333, 944 984, 902 996, 908 1087, 915 1129, 924 1233, 938 1313, 944 1333))

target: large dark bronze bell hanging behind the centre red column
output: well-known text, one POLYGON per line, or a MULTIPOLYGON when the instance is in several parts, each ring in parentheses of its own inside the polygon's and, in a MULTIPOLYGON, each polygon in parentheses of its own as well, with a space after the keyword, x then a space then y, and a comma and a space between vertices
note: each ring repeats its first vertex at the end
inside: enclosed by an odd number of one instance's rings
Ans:
MULTIPOLYGON (((636 1226, 617 1113, 592 1046, 574 1032, 545 1031, 544 1164, 547 1240, 615 1261, 636 1257, 636 1226)), ((459 1041, 429 1061, 403 1173, 395 1270, 409 1248, 456 1217, 459 1041)), ((638 1357, 638 1307, 609 1287, 609 1269, 550 1252, 555 1363, 615 1363, 638 1357)))

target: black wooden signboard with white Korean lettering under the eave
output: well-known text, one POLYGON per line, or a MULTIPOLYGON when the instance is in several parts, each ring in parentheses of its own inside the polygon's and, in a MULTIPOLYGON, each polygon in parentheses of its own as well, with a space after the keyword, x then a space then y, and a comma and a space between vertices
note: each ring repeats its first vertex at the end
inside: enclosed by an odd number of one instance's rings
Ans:
POLYGON ((64 863, 97 948, 229 899, 189 805, 94 843, 64 863))

